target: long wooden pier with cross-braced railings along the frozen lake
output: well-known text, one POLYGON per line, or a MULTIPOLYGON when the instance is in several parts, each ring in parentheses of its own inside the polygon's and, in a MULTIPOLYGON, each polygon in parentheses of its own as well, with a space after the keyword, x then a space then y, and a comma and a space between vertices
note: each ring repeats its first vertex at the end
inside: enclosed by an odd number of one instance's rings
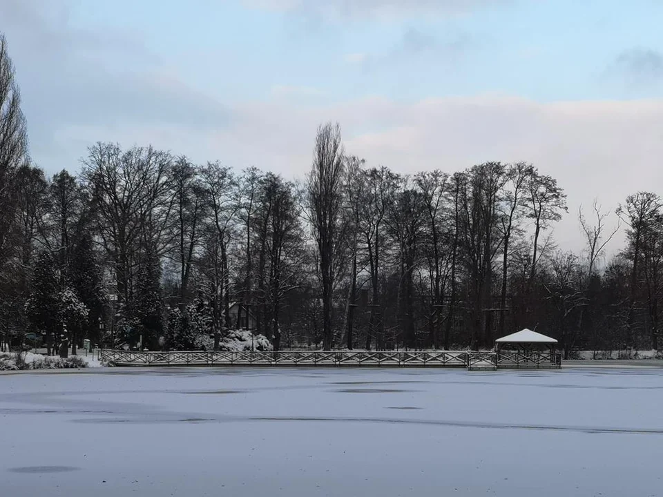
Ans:
POLYGON ((137 352, 101 349, 99 360, 115 366, 321 366, 460 367, 479 369, 559 369, 561 355, 550 352, 475 351, 174 351, 137 352))

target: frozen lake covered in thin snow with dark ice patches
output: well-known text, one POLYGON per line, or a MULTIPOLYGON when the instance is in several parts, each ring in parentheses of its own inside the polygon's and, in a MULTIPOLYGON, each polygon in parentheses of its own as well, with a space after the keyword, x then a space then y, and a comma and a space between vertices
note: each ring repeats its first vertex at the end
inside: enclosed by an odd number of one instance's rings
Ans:
POLYGON ((663 369, 0 375, 7 496, 660 496, 663 369))

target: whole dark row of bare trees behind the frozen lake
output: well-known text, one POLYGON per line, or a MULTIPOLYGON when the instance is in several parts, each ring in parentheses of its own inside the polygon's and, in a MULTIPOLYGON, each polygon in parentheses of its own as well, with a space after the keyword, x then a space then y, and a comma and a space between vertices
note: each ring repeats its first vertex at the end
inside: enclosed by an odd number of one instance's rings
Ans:
POLYGON ((302 184, 101 142, 79 175, 47 178, 0 38, 3 342, 214 348, 251 323, 274 349, 479 349, 523 327, 567 356, 660 347, 655 193, 619 206, 626 246, 599 264, 608 213, 579 213, 582 253, 558 249, 566 195, 531 164, 398 175, 346 153, 332 124, 311 145, 302 184))

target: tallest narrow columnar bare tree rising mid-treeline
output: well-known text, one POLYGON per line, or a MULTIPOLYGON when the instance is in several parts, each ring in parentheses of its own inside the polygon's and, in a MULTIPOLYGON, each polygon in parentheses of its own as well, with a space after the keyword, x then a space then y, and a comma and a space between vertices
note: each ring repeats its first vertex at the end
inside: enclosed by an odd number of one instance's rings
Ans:
POLYGON ((343 144, 338 124, 318 128, 314 160, 307 190, 309 216, 318 246, 320 286, 323 297, 323 349, 334 346, 332 306, 334 282, 339 270, 343 231, 343 144))

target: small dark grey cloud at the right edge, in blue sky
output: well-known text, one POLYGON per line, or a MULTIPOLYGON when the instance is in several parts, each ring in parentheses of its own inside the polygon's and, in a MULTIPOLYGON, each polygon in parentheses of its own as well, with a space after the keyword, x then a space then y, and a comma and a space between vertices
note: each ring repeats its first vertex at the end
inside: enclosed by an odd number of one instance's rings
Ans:
POLYGON ((663 55, 651 48, 630 48, 617 55, 607 73, 628 88, 651 88, 663 84, 663 55))

